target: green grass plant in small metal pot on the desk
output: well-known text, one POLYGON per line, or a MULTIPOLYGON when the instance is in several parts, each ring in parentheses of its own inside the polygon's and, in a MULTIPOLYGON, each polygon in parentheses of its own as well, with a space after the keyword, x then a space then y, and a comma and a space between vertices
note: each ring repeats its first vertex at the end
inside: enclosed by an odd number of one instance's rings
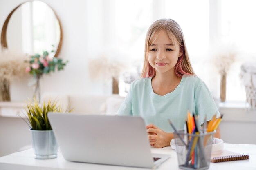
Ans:
POLYGON ((58 144, 47 114, 48 112, 62 113, 61 105, 58 105, 57 101, 52 101, 51 99, 47 103, 43 102, 40 105, 39 101, 34 98, 32 101, 27 102, 25 110, 27 112, 27 121, 24 120, 29 125, 29 130, 32 134, 34 157, 36 159, 56 158, 58 144))

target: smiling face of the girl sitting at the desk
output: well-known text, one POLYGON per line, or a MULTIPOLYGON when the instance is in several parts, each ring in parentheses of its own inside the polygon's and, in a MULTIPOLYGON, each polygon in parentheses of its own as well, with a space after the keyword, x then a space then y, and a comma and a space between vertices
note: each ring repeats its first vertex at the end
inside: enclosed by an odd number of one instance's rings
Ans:
POLYGON ((148 62, 155 68, 156 74, 174 73, 175 65, 182 54, 177 41, 171 42, 166 31, 161 30, 153 44, 148 47, 148 62))

